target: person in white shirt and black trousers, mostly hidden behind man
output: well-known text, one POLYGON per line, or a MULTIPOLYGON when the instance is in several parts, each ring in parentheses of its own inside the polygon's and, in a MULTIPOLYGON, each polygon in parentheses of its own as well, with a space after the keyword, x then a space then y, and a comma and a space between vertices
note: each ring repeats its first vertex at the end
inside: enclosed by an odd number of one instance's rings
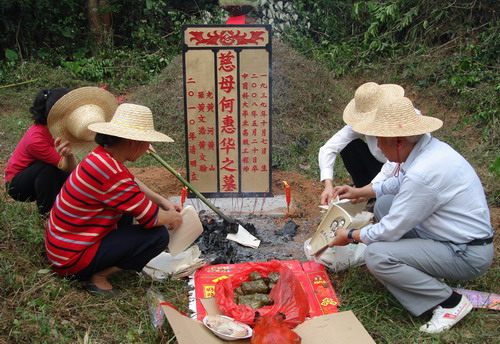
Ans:
POLYGON ((321 204, 327 205, 333 199, 333 168, 340 154, 347 172, 356 187, 384 180, 394 175, 397 164, 388 162, 373 136, 359 134, 352 125, 373 116, 377 105, 384 97, 404 96, 399 85, 367 82, 356 90, 354 99, 344 109, 343 120, 347 124, 336 132, 319 150, 318 160, 321 181, 325 189, 321 194, 321 204), (362 140, 365 138, 366 142, 362 140))

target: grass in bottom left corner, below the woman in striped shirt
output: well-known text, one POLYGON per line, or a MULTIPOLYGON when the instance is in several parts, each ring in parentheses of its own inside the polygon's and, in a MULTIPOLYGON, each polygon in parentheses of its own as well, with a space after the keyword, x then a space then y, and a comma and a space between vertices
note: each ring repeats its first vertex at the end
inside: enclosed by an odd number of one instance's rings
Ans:
POLYGON ((152 282, 124 272, 111 279, 121 286, 119 299, 90 296, 81 283, 50 270, 34 206, 2 198, 0 343, 83 343, 86 335, 88 343, 160 343, 172 336, 152 327, 146 292, 154 286, 182 306, 188 293, 184 282, 152 282))

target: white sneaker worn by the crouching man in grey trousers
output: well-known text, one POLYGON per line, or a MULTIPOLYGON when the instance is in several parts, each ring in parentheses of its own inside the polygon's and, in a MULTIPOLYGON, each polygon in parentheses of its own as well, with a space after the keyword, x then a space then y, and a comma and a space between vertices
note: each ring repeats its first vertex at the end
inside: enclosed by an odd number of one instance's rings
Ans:
POLYGON ((462 295, 460 302, 453 308, 437 306, 432 311, 432 319, 420 327, 420 331, 427 333, 440 333, 450 329, 472 310, 472 303, 462 295))

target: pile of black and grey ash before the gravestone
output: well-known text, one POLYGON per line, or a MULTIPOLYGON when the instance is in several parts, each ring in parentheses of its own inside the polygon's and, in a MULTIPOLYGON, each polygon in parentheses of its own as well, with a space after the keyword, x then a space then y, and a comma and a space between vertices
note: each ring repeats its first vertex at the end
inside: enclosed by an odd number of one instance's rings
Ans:
POLYGON ((236 233, 237 225, 231 225, 216 217, 200 215, 203 233, 195 241, 201 258, 215 264, 264 262, 271 259, 304 261, 303 241, 294 240, 299 225, 286 224, 273 216, 249 215, 234 217, 250 234, 261 240, 259 248, 251 248, 227 240, 228 233, 236 233))

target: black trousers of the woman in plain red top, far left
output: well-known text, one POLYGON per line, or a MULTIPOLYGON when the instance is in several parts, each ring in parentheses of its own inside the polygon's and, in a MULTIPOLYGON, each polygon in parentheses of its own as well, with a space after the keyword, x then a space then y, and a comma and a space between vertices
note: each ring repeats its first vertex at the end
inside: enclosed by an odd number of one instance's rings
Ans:
POLYGON ((5 183, 5 189, 16 201, 35 201, 38 212, 46 214, 52 209, 57 194, 68 176, 68 172, 54 165, 35 161, 12 178, 9 183, 5 183))

